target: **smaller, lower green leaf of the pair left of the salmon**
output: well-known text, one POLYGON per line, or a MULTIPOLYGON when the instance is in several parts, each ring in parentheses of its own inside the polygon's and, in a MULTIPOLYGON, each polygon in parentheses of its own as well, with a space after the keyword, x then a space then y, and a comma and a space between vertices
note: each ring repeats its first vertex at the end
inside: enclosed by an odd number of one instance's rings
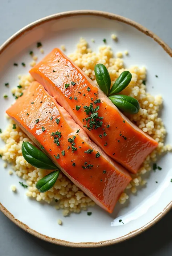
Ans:
POLYGON ((44 178, 38 180, 36 183, 36 188, 41 192, 44 193, 50 188, 52 188, 58 178, 58 175, 60 173, 60 170, 50 172, 48 175, 46 175, 44 178))

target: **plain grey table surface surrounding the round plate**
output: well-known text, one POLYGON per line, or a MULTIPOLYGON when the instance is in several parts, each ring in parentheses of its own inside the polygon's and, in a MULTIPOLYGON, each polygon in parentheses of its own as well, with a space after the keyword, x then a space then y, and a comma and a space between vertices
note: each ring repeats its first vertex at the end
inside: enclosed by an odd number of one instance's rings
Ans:
MULTIPOLYGON (((172 0, 1 0, 0 44, 20 28, 57 12, 93 9, 130 18, 161 37, 172 48, 172 0)), ((172 211, 141 235, 104 248, 78 249, 46 243, 29 235, 0 212, 1 256, 60 256, 121 254, 132 256, 172 255, 172 211)))

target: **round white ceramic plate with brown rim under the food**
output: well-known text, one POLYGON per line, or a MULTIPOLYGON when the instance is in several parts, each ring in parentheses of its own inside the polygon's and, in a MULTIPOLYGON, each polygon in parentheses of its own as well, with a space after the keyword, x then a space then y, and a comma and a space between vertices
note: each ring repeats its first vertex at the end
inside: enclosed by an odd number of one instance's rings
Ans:
MULTIPOLYGON (((106 38, 113 50, 127 49, 130 52, 130 57, 124 58, 126 66, 146 66, 147 90, 153 95, 163 96, 162 118, 168 131, 166 141, 172 144, 171 49, 141 25, 120 16, 95 11, 66 12, 46 17, 23 28, 4 43, 0 49, 0 128, 7 126, 4 113, 13 102, 12 96, 7 100, 3 98, 4 93, 11 95, 4 84, 9 82, 10 88, 16 86, 17 74, 28 72, 31 60, 29 50, 33 50, 41 60, 43 56, 36 48, 36 42, 42 42, 45 54, 61 44, 66 45, 66 54, 69 54, 75 50, 80 37, 90 42, 93 50, 97 50, 102 45, 102 39, 106 38), (118 35, 118 43, 111 39, 112 33, 118 35), (95 44, 91 38, 95 39, 95 44), (25 68, 21 65, 16 67, 14 62, 25 62, 27 65, 25 68)), ((3 146, 2 142, 0 146, 3 146)), ((130 195, 126 205, 117 204, 113 214, 96 206, 90 209, 93 212, 91 216, 83 211, 64 218, 62 212, 51 205, 27 198, 21 186, 17 186, 16 194, 13 193, 10 186, 19 184, 19 177, 9 176, 1 160, 0 210, 26 231, 53 243, 76 247, 118 243, 151 227, 172 207, 171 155, 164 155, 159 165, 162 171, 150 172, 147 187, 138 190, 137 195, 130 195), (58 225, 57 219, 61 219, 64 225, 58 225), (124 224, 119 223, 119 219, 124 224)))

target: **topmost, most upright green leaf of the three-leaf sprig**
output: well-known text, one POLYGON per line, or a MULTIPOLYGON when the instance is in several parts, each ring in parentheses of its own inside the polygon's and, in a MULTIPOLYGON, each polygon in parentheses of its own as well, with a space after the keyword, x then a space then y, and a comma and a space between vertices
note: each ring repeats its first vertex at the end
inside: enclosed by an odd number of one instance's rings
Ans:
POLYGON ((95 72, 95 79, 100 89, 106 95, 108 95, 110 91, 110 86, 111 86, 111 79, 110 79, 110 75, 107 68, 103 64, 97 64, 94 67, 94 72, 95 72))

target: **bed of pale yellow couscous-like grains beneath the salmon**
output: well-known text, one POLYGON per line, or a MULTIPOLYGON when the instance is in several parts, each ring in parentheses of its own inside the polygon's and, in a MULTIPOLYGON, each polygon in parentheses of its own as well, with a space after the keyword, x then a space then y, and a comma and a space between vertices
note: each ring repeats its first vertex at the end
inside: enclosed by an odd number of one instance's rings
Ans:
MULTIPOLYGON (((124 54, 128 54, 128 51, 125 51, 124 54)), ((118 53, 116 53, 116 56, 117 55, 118 53)), ((114 53, 110 46, 103 45, 99 48, 98 53, 92 52, 92 50, 88 48, 86 40, 81 38, 77 44, 76 52, 70 54, 69 58, 71 58, 95 84, 97 84, 97 82, 95 80, 94 66, 98 63, 104 64, 108 69, 111 77, 111 86, 124 70, 130 71, 132 80, 127 88, 123 90, 122 94, 136 98, 139 101, 140 110, 134 115, 127 114, 127 117, 159 143, 158 147, 145 159, 138 174, 132 174, 132 181, 119 198, 119 203, 124 204, 129 198, 127 195, 129 190, 132 193, 136 193, 139 185, 144 186, 147 183, 143 175, 152 169, 151 162, 155 162, 158 155, 172 149, 170 145, 164 145, 166 130, 163 121, 158 117, 163 99, 160 95, 154 97, 146 92, 144 82, 146 80, 146 68, 133 66, 126 69, 122 58, 114 58, 114 53)), ((16 97, 19 97, 34 80, 30 75, 19 76, 19 79, 19 85, 21 85, 21 87, 19 86, 12 89, 12 93, 16 97)), ((35 185, 37 181, 50 171, 35 168, 22 157, 22 142, 32 142, 17 125, 15 130, 12 129, 13 123, 14 122, 10 119, 9 126, 0 134, 0 137, 5 142, 5 148, 0 149, 0 154, 3 160, 12 164, 15 173, 26 180, 28 185, 26 195, 35 198, 37 201, 44 200, 47 203, 54 202, 57 210, 63 210, 64 216, 69 215, 70 212, 80 212, 81 210, 87 210, 89 206, 94 206, 95 203, 79 190, 62 172, 54 187, 49 191, 40 193, 36 189, 35 185)))

